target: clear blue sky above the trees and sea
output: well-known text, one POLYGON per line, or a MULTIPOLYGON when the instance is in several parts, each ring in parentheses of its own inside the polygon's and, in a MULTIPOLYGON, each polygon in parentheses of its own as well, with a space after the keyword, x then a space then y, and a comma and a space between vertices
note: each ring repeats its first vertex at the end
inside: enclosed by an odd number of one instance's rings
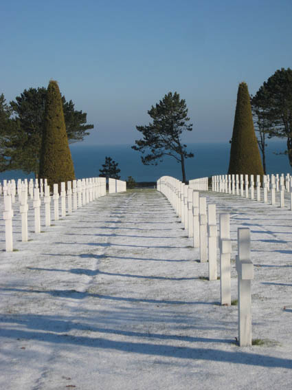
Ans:
POLYGON ((91 144, 133 143, 168 91, 186 100, 186 142, 228 141, 238 83, 255 94, 292 67, 291 0, 16 0, 0 32, 0 94, 58 80, 95 125, 91 144))

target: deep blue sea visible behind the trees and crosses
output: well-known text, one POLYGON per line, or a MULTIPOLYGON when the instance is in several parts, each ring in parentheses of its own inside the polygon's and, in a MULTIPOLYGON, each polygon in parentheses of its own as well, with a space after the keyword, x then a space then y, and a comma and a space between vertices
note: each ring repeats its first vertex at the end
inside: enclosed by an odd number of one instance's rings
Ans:
MULTIPOLYGON (((136 182, 155 182, 159 177, 169 175, 181 180, 181 164, 174 158, 166 157, 157 166, 144 165, 141 154, 131 149, 131 144, 121 145, 90 145, 71 144, 71 155, 74 161, 76 178, 98 177, 99 170, 107 157, 118 163, 121 180, 132 176, 136 182)), ((224 175, 229 165, 230 144, 225 143, 198 143, 188 144, 188 151, 194 153, 194 158, 186 159, 187 180, 197 177, 224 175)), ((291 173, 288 156, 278 154, 285 150, 285 143, 281 141, 269 142, 266 151, 267 173, 291 173)), ((5 171, 0 173, 0 180, 23 179, 34 177, 22 171, 5 171)))

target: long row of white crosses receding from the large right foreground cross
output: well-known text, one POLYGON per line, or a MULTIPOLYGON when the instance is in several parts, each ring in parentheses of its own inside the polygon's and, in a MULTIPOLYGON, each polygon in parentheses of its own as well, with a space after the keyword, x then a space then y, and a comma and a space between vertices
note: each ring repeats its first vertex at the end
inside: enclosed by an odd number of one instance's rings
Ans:
MULTIPOLYGON (((164 176, 157 181, 157 189, 169 200, 181 223, 193 238, 194 248, 199 248, 201 262, 209 261, 209 280, 217 280, 217 226, 216 205, 208 204, 198 191, 174 177, 164 176)), ((221 305, 231 305, 232 253, 229 214, 219 215, 220 286, 221 305)), ((250 260, 249 228, 238 229, 238 341, 240 346, 251 345, 251 279, 254 266, 250 260)))

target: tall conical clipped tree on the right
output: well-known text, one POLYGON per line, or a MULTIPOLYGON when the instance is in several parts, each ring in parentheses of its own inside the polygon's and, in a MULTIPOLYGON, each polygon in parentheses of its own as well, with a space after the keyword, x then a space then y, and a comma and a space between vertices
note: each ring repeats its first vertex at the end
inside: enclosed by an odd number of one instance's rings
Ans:
POLYGON ((238 87, 228 169, 229 175, 240 173, 264 175, 246 83, 238 87))

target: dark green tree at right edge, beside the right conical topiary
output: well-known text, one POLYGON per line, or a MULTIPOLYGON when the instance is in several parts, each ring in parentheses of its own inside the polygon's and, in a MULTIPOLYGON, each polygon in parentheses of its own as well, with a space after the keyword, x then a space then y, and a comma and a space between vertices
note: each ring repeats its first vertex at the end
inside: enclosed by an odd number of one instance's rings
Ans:
POLYGON ((292 69, 277 70, 251 99, 268 138, 287 139, 287 153, 292 166, 292 69))

